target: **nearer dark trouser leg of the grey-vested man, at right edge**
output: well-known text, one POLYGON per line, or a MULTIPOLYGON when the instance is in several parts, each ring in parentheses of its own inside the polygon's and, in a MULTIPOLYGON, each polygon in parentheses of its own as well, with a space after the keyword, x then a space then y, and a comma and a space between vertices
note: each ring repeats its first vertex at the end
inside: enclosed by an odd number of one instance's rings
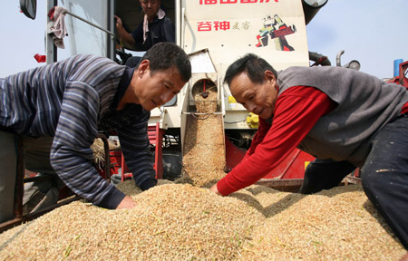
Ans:
POLYGON ((408 115, 388 123, 372 144, 361 171, 364 192, 408 249, 408 115))

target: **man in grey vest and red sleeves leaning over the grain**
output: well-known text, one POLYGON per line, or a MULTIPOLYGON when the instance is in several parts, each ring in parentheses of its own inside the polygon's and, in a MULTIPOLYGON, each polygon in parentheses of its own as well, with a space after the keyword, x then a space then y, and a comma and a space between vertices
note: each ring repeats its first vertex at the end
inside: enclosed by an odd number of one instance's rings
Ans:
POLYGON ((276 72, 247 54, 225 82, 260 118, 246 156, 211 190, 228 194, 254 184, 298 148, 316 157, 300 193, 337 186, 362 168, 364 192, 408 249, 408 92, 401 85, 342 67, 276 72))

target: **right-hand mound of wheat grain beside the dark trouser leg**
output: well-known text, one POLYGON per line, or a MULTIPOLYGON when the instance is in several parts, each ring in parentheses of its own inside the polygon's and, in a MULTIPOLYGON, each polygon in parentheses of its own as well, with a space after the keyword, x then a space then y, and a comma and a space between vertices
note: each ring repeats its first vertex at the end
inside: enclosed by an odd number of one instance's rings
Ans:
POLYGON ((361 186, 315 195, 259 186, 233 197, 266 217, 242 260, 400 260, 406 253, 361 186))

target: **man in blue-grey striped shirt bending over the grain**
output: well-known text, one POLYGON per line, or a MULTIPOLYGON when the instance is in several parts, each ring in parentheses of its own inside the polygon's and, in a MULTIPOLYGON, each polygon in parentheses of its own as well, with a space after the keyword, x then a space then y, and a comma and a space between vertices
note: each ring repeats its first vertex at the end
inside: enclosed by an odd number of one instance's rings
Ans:
POLYGON ((155 186, 150 111, 170 101, 190 76, 188 55, 174 43, 158 43, 136 68, 75 55, 0 79, 0 222, 14 215, 17 141, 28 156, 26 169, 54 171, 102 208, 133 208, 133 199, 92 167, 90 146, 98 131, 117 131, 136 184, 142 190, 155 186))

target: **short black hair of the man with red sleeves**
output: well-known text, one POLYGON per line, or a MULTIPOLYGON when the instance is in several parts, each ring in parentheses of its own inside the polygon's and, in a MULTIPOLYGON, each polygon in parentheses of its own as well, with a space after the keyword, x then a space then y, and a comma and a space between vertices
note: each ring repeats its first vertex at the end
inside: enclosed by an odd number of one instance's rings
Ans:
POLYGON ((245 72, 252 82, 262 83, 264 82, 265 71, 270 71, 277 77, 277 71, 265 59, 258 57, 254 53, 248 53, 228 66, 224 82, 230 85, 235 76, 245 72))

